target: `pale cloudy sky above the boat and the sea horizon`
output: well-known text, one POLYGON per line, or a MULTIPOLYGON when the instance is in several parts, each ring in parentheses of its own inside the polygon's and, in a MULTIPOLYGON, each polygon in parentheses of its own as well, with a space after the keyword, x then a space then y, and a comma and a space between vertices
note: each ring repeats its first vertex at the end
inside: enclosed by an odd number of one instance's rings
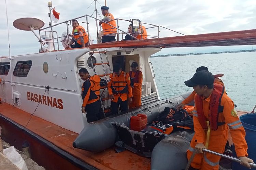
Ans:
MULTIPOLYGON (((13 21, 23 17, 34 17, 49 22, 49 0, 7 0, 8 24, 11 56, 38 53, 40 44, 31 31, 13 27, 13 21)), ((93 0, 52 0, 53 7, 60 13, 58 23, 94 12, 93 0)), ((104 0, 98 0, 103 6, 104 0)), ((5 0, 0 0, 0 56, 9 56, 5 0)), ((100 5, 97 3, 99 13, 100 5)), ((107 0, 107 6, 115 18, 140 19, 145 23, 161 25, 185 35, 224 31, 248 30, 256 28, 256 0, 107 0)), ((95 13, 93 14, 95 16, 95 13)), ((85 18, 79 19, 86 28, 85 18)), ((95 20, 89 19, 90 34, 96 37, 95 20)), ((120 22, 120 29, 127 31, 128 22, 120 22)), ((147 27, 147 26, 146 26, 147 27)), ((69 27, 72 29, 72 26, 69 27)), ((54 28, 60 36, 66 25, 54 28)), ((38 33, 38 31, 36 31, 38 33)), ((148 30, 149 35, 157 35, 157 29, 148 30)), ((169 30, 160 29, 160 37, 179 36, 169 30)), ((96 39, 96 38, 94 38, 96 39)), ((95 41, 94 41, 95 42, 95 41)), ((63 49, 62 45, 60 48, 63 49)), ((256 46, 168 48, 157 55, 186 52, 209 52, 236 49, 252 49, 256 46)))

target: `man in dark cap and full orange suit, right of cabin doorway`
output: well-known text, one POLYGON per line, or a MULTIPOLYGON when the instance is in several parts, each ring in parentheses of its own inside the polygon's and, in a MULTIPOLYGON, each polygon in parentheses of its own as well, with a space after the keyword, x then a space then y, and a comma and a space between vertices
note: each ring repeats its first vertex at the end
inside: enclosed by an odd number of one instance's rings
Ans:
POLYGON ((138 63, 132 62, 131 69, 132 71, 129 72, 131 78, 131 87, 132 87, 132 101, 129 105, 129 109, 131 108, 138 108, 141 106, 141 85, 142 85, 142 72, 138 70, 138 63))

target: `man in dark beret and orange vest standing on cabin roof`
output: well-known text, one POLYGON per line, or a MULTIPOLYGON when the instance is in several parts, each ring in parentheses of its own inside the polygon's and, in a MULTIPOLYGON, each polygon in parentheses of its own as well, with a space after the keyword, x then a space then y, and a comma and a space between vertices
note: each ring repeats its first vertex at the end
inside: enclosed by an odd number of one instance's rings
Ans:
POLYGON ((109 7, 107 6, 101 6, 101 13, 102 15, 104 15, 104 18, 102 20, 100 20, 99 25, 101 25, 102 27, 102 31, 103 31, 103 36, 101 39, 102 43, 106 43, 106 42, 111 42, 111 41, 115 41, 115 37, 116 37, 116 21, 113 20, 115 19, 114 16, 109 13, 109 7), (110 21, 112 20, 112 21, 110 21), (108 24, 104 23, 107 22, 108 24))

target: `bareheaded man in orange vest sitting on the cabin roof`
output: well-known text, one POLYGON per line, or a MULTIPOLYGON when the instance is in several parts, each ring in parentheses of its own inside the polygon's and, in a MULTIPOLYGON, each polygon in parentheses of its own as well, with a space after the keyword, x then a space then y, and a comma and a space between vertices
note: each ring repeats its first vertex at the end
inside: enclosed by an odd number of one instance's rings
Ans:
MULTIPOLYGON (((81 47, 89 46, 88 34, 85 32, 84 27, 80 26, 76 19, 72 20, 72 26, 73 26, 72 34, 74 39, 72 38, 70 40, 70 44, 71 44, 70 47, 81 48, 81 47), (72 45, 73 43, 75 44, 72 45)), ((69 45, 65 49, 68 49, 68 48, 69 48, 69 45)))

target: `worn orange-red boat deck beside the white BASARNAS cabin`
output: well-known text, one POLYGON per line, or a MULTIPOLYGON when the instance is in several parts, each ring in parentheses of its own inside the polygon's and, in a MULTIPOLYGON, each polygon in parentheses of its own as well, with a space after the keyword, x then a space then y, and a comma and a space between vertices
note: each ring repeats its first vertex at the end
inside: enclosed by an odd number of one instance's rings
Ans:
MULTIPOLYGON (((7 117, 12 121, 16 122, 17 124, 26 126, 27 122, 31 118, 31 114, 22 111, 16 107, 12 107, 9 104, 2 103, 0 104, 0 116, 7 117)), ((2 133, 5 136, 10 136, 10 138, 14 138, 11 135, 9 130, 7 130, 7 126, 4 125, 2 118, 0 119, 0 125, 2 126, 2 133), (6 128, 6 129, 4 129, 6 128), (7 132, 9 131, 9 132, 7 132)), ((42 137, 43 139, 49 141, 56 147, 60 148, 61 150, 69 153, 70 155, 74 156, 75 158, 81 160, 89 164, 92 167, 97 169, 150 169, 150 158, 145 158, 138 156, 128 150, 125 150, 121 153, 116 153, 114 151, 114 147, 109 148, 100 153, 92 153, 85 150, 77 149, 72 146, 73 141, 78 136, 77 133, 72 131, 66 130, 57 126, 51 122, 45 121, 37 116, 32 116, 31 120, 27 125, 27 130, 31 131, 32 133, 37 134, 38 136, 42 137)), ((16 137, 16 136, 15 136, 16 137)), ((5 137, 6 138, 6 137, 5 137)), ((7 137, 8 138, 8 137, 7 137)), ((6 140, 6 139, 4 139, 6 140)), ((10 139, 9 139, 10 140, 10 139)), ((10 142, 11 145, 17 145, 18 142, 13 143, 7 139, 7 142, 10 142)), ((15 139, 18 141, 18 139, 15 139)), ((104 141, 102 141, 104 142, 104 141)), ((30 146, 33 143, 30 143, 30 146)), ((15 146, 19 149, 21 146, 15 146)), ((37 147, 37 146, 35 146, 37 147)), ((39 149, 38 149, 39 150, 39 149)), ((37 151, 33 151, 31 149, 31 155, 36 156, 42 153, 37 153, 37 151)), ((39 159, 39 158, 38 158, 39 159)), ((52 157, 51 157, 52 159, 52 157)), ((49 159, 45 160, 35 160, 39 164, 49 164, 49 159), (42 162, 43 161, 43 162, 42 162)), ((45 165, 43 165, 45 166, 45 165)), ((57 166, 58 167, 58 166, 57 166)), ((45 166, 46 169, 53 169, 53 167, 45 166)), ((59 169, 59 168, 58 168, 59 169)), ((78 168, 79 169, 79 168, 78 168)))

